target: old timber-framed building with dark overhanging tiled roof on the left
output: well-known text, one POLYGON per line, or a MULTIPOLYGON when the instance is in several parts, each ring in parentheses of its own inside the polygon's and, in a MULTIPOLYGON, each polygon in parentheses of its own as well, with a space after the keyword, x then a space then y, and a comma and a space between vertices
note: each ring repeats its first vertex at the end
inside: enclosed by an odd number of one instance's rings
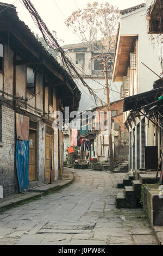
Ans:
POLYGON ((0 185, 4 196, 61 177, 62 131, 53 112, 77 110, 80 91, 64 68, 0 4, 0 185), (29 157, 29 161, 28 161, 29 157), (29 172, 28 172, 29 170, 29 172))

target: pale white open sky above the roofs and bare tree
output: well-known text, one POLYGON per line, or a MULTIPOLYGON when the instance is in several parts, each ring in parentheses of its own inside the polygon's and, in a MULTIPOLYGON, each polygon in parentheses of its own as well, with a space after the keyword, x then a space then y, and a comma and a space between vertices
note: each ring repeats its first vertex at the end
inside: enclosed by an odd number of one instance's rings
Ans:
MULTIPOLYGON (((21 0, 5 0, 4 3, 14 4, 17 7, 18 16, 22 21, 28 25, 28 27, 35 33, 39 33, 39 29, 34 25, 27 9, 22 5, 21 0)), ((64 42, 58 40, 61 46, 65 44, 75 44, 79 40, 72 32, 72 28, 67 28, 64 21, 71 15, 72 11, 78 8, 83 9, 87 3, 93 3, 95 0, 31 0, 36 10, 42 17, 42 20, 46 23, 47 27, 52 31, 57 32, 57 38, 64 40, 64 42)), ((141 4, 143 0, 98 0, 99 3, 109 2, 116 5, 118 8, 126 9, 133 7, 134 5, 141 4)))

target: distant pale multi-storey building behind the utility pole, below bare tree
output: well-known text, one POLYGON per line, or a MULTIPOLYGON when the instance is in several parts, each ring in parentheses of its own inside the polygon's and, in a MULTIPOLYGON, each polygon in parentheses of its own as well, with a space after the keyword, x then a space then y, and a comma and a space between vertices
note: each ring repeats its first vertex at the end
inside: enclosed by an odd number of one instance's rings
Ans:
MULTIPOLYGON (((98 60, 95 60, 94 57, 101 53, 108 54, 108 52, 105 49, 100 50, 102 47, 98 45, 90 46, 86 43, 64 45, 62 48, 66 52, 67 57, 76 66, 77 71, 84 78, 85 82, 92 89, 95 89, 95 93, 100 99, 106 102, 104 66, 98 60)), ((112 49, 109 54, 114 57, 114 50, 112 49)), ((62 65, 60 56, 58 57, 58 62, 62 65)), ((114 102, 121 99, 120 90, 122 83, 112 82, 112 61, 108 65, 110 102, 114 102)), ((76 75, 73 78, 77 79, 76 82, 82 92, 79 111, 82 112, 85 109, 97 107, 93 97, 83 86, 79 78, 76 75)), ((98 102, 98 106, 101 106, 101 102, 98 102)))

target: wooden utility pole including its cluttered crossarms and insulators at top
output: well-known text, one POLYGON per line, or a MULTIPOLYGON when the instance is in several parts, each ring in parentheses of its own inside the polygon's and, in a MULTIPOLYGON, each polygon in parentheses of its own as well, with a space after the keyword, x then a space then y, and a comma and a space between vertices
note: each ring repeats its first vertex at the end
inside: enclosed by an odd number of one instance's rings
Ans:
MULTIPOLYGON (((108 61, 112 59, 110 54, 100 54, 98 56, 93 57, 92 59, 98 59, 99 61, 102 61, 101 64, 104 64, 104 73, 105 73, 105 82, 106 82, 106 100, 107 100, 107 105, 108 105, 108 111, 111 113, 111 108, 110 108, 110 96, 109 96, 109 84, 108 84, 108 70, 107 68, 110 65, 107 65, 108 61), (109 55, 109 56, 108 56, 109 55), (107 57, 108 56, 108 57, 107 57)), ((109 118, 109 124, 110 124, 110 134, 109 134, 109 151, 110 151, 110 171, 113 172, 113 151, 112 151, 112 134, 111 134, 111 118, 109 118)), ((108 132, 109 132, 109 127, 108 127, 108 132)))

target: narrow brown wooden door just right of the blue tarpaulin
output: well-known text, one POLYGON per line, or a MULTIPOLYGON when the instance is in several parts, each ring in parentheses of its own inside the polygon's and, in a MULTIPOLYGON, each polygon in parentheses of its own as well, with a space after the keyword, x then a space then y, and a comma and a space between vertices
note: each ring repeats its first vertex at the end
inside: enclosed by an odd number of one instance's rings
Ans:
POLYGON ((29 181, 35 181, 35 137, 36 132, 29 130, 29 181))

